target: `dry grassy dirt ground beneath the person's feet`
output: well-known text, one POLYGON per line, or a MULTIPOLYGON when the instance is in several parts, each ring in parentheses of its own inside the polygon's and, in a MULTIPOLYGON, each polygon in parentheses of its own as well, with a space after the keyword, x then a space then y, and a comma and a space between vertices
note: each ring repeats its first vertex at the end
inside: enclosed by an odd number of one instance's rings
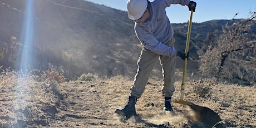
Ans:
MULTIPOLYGON (((215 116, 228 127, 256 127, 255 86, 218 83, 203 98, 186 79, 185 100, 209 111, 199 114, 173 103, 175 114, 168 114, 163 111, 162 82, 150 79, 136 104, 138 116, 124 120, 114 111, 124 107, 129 96, 128 78, 57 83, 15 72, 0 75, 0 127, 213 127, 215 116)), ((180 81, 177 76, 173 100, 179 99, 180 81)))

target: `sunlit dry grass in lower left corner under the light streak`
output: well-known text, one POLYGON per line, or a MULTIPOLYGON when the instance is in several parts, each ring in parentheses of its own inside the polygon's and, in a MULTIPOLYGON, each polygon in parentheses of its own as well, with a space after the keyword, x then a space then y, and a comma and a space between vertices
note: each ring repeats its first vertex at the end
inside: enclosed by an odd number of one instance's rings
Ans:
POLYGON ((56 81, 35 81, 29 72, 0 73, 0 126, 46 126, 60 102, 56 81))

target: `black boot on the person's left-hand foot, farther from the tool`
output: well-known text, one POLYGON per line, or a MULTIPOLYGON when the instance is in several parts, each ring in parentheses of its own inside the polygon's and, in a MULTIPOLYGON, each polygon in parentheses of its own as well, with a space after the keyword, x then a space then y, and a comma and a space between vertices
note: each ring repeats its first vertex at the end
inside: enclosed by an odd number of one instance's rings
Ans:
POLYGON ((116 109, 115 113, 121 116, 126 116, 126 119, 129 119, 131 116, 136 115, 135 104, 137 98, 135 96, 129 96, 129 101, 123 109, 116 109))

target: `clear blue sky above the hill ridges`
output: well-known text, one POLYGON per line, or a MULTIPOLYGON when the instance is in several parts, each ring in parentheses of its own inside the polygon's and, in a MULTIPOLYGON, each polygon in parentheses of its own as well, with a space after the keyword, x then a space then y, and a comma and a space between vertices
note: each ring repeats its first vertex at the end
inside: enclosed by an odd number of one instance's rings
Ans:
MULTIPOLYGON (((104 4, 105 6, 127 11, 127 0, 86 0, 93 3, 104 4)), ((193 13, 193 22, 205 22, 212 19, 232 19, 235 13, 238 16, 235 18, 248 18, 249 12, 256 12, 256 0, 195 0, 197 3, 195 12, 193 13)), ((190 12, 187 6, 180 4, 172 4, 166 8, 172 23, 184 23, 189 20, 190 12)), ((128 17, 127 17, 128 18, 128 17)))

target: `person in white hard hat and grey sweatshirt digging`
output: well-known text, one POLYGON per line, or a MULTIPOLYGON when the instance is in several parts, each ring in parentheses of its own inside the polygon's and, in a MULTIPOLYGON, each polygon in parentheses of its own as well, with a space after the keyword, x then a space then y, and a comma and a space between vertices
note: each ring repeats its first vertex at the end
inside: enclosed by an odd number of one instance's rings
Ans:
POLYGON ((174 48, 174 31, 165 11, 165 8, 170 7, 171 4, 186 5, 189 11, 195 11, 196 7, 196 3, 189 0, 127 1, 128 17, 134 20, 136 36, 143 46, 137 61, 137 73, 130 88, 128 102, 123 109, 115 110, 116 114, 126 116, 127 119, 136 115, 135 104, 145 90, 147 80, 157 58, 163 71, 164 110, 173 112, 171 96, 175 91, 176 56, 183 60, 188 56, 174 48))

